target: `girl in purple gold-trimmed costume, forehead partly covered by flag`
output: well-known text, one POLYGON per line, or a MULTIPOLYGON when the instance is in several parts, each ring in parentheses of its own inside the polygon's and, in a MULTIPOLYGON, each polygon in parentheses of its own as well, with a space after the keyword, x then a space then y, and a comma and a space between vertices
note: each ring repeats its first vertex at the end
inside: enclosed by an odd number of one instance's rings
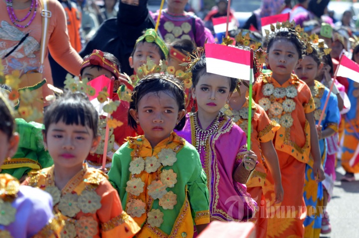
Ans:
POLYGON ((257 204, 244 184, 255 168, 257 156, 247 151, 242 129, 220 112, 237 80, 207 73, 202 52, 200 48, 187 68, 192 72, 192 97, 197 101, 198 111, 186 115, 185 126, 178 134, 199 152, 207 175, 211 221, 249 221, 257 204))

